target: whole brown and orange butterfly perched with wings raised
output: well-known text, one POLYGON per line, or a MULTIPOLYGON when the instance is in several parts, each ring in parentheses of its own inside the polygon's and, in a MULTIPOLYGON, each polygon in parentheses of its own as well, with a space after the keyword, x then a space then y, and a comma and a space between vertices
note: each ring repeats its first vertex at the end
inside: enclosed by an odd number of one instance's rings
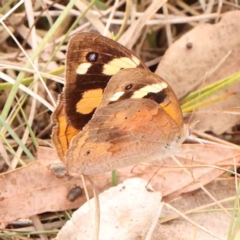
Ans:
POLYGON ((115 41, 78 33, 66 64, 53 142, 70 175, 162 159, 188 135, 168 83, 115 41))

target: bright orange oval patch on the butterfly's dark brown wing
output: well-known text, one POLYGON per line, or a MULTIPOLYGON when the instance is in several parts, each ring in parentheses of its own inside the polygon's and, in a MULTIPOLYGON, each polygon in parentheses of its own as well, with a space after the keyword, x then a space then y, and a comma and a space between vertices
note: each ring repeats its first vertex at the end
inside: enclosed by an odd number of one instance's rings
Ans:
POLYGON ((97 108, 102 100, 103 90, 101 88, 89 90, 83 93, 82 99, 77 103, 77 112, 89 114, 97 108))

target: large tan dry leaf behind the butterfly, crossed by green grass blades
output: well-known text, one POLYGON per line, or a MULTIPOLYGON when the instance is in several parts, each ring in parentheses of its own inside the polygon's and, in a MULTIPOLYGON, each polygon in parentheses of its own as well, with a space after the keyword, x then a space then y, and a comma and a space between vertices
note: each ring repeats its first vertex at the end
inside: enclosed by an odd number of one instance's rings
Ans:
MULTIPOLYGON (((206 72, 211 72, 221 62, 220 67, 207 77, 206 84, 240 71, 239 22, 240 11, 231 11, 225 13, 217 24, 199 24, 169 47, 156 73, 167 80, 177 96, 182 98, 201 87, 206 72)), ((202 109, 209 114, 201 118, 197 129, 221 134, 238 123, 240 117, 237 115, 212 114, 239 106, 237 89, 240 89, 240 83, 220 93, 235 93, 234 96, 202 109)))

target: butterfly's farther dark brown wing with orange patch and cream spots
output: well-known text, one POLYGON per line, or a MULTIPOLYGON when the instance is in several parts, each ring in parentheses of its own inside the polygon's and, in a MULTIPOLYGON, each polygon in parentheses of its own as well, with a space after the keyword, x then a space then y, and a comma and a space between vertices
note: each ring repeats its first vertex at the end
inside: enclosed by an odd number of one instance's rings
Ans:
POLYGON ((99 34, 78 33, 70 39, 65 88, 52 116, 52 139, 61 160, 100 104, 111 76, 124 68, 147 69, 132 51, 99 34))

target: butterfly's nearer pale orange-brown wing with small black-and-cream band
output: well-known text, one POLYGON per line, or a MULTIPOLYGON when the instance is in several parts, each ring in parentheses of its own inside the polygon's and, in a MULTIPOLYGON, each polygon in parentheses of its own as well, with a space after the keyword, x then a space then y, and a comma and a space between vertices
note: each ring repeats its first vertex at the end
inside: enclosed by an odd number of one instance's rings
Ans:
POLYGON ((147 70, 125 69, 110 79, 93 118, 72 140, 68 171, 96 174, 162 159, 185 135, 170 86, 147 70))

